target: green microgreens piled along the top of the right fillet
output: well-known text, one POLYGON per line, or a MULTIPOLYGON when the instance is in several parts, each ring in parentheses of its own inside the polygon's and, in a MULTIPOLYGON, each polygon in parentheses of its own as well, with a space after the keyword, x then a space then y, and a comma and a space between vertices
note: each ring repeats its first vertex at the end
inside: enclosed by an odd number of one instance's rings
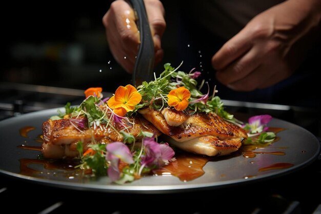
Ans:
MULTIPOLYGON (((183 62, 182 62, 183 63, 183 62)), ((197 88, 196 77, 200 75, 199 71, 192 69, 189 73, 179 71, 179 67, 182 63, 174 68, 170 63, 164 65, 164 71, 159 75, 158 78, 155 78, 154 81, 143 82, 142 85, 137 87, 137 90, 142 95, 141 104, 136 105, 135 109, 130 112, 131 115, 138 109, 144 107, 150 107, 154 109, 161 110, 162 108, 168 106, 167 95, 171 90, 177 89, 181 86, 184 86, 190 91, 190 99, 188 108, 198 112, 212 112, 216 113, 222 118, 237 124, 242 124, 234 118, 234 116, 224 110, 224 104, 218 96, 215 95, 216 86, 214 86, 213 94, 209 97, 210 87, 208 86, 208 93, 203 94, 200 90, 202 89, 205 81, 202 81, 202 84, 197 88)))

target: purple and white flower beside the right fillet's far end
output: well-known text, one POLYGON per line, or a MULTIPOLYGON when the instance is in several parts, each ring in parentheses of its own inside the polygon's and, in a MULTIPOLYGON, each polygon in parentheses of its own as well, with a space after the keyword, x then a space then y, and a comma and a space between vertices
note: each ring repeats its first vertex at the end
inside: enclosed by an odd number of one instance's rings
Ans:
POLYGON ((269 129, 267 124, 271 120, 272 116, 268 114, 252 116, 249 118, 249 123, 247 123, 243 128, 251 134, 261 133, 269 129))

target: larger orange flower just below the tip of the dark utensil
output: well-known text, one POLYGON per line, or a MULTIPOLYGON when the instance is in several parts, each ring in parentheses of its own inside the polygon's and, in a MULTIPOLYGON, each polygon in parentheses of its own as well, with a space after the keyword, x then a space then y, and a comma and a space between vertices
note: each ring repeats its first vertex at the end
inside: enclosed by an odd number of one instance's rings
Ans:
POLYGON ((141 102, 142 95, 132 85, 119 86, 115 95, 108 100, 108 106, 118 116, 124 116, 127 112, 134 110, 135 106, 141 102))

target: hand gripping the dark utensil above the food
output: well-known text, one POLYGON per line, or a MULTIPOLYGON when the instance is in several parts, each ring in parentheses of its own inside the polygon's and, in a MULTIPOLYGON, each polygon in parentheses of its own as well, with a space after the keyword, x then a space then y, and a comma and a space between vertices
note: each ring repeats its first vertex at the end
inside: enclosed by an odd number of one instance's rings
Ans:
MULTIPOLYGON (((154 41, 156 65, 164 56, 160 40, 166 28, 165 11, 163 4, 158 0, 144 0, 144 3, 154 41)), ((103 17, 111 53, 119 65, 129 73, 133 72, 140 43, 135 21, 133 9, 124 0, 111 3, 103 17)))

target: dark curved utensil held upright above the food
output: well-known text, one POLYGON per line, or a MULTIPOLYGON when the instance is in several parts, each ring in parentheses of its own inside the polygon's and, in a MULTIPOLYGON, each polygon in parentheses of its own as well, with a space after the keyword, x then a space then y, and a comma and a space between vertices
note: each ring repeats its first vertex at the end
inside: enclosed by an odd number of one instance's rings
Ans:
POLYGON ((141 38, 132 77, 132 82, 137 87, 143 81, 149 82, 153 80, 155 52, 144 1, 130 0, 129 2, 134 9, 137 19, 136 24, 141 38))

